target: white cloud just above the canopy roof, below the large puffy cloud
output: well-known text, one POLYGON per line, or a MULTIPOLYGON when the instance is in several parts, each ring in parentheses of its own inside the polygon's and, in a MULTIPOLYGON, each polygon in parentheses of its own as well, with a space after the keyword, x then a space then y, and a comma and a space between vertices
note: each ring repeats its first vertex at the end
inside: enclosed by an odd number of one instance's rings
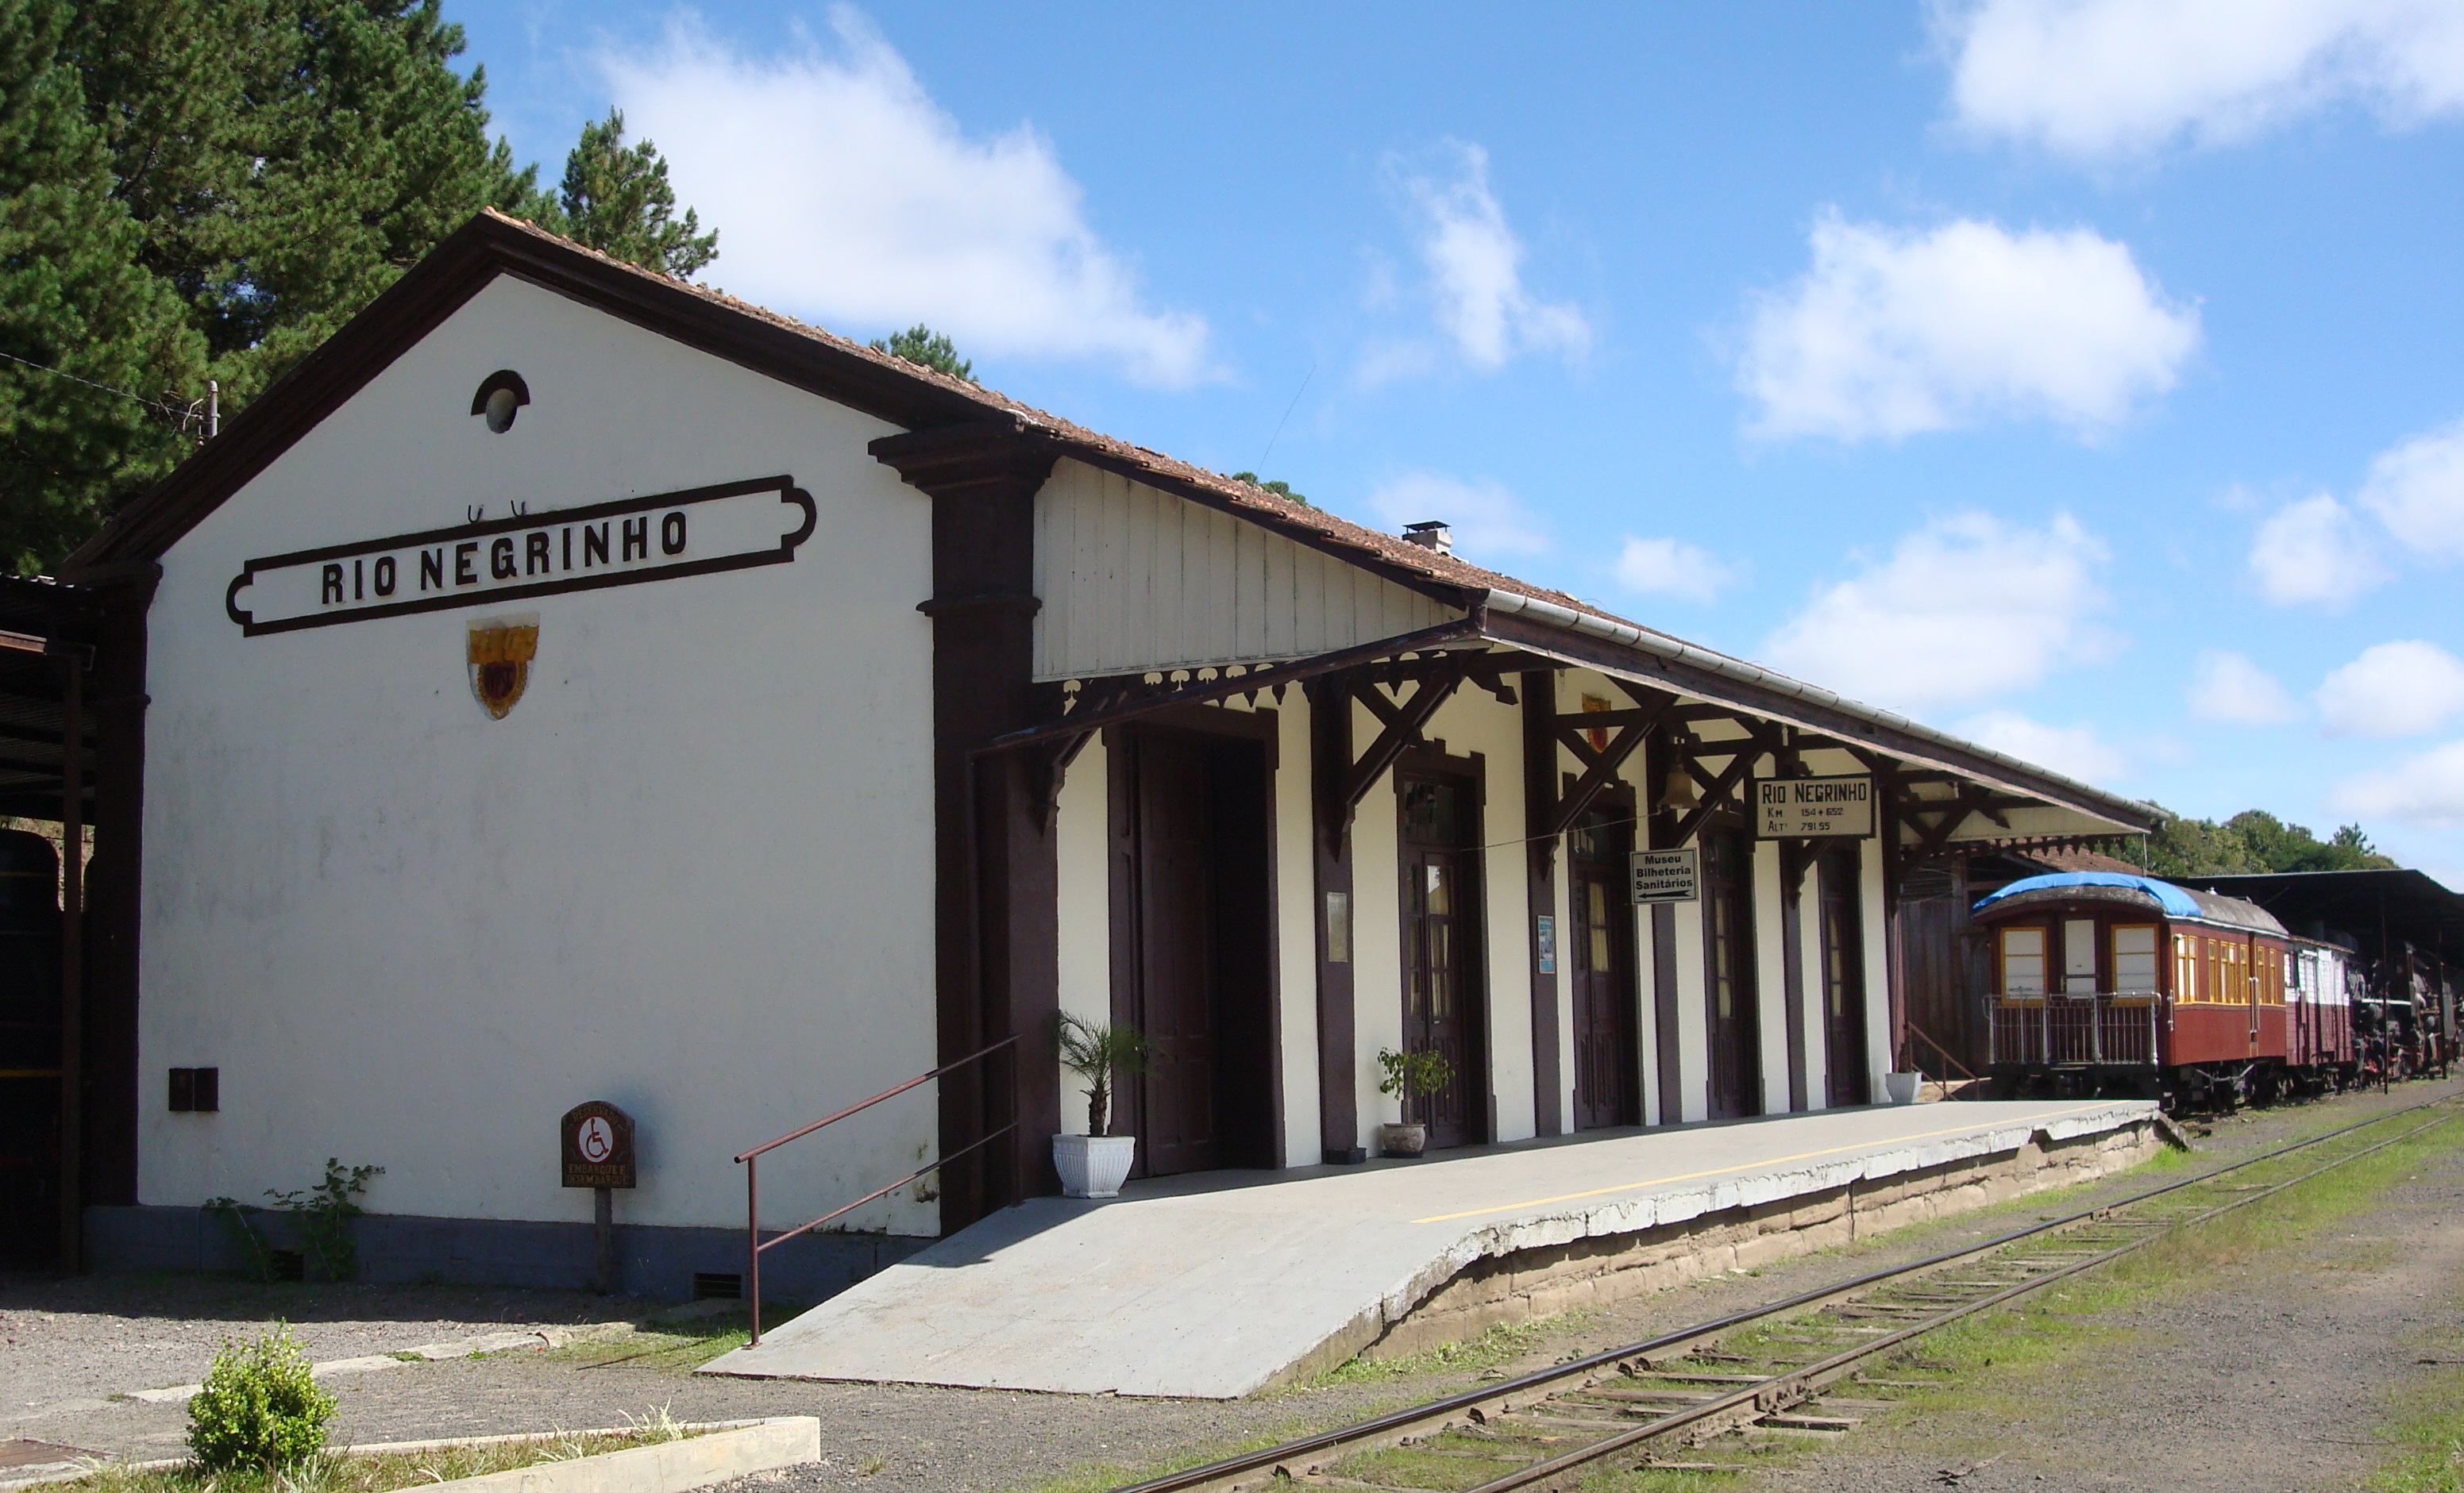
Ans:
POLYGON ((1764 653, 1878 705, 1988 700, 2114 648, 2092 623, 2102 562, 2104 544, 2067 512, 2043 530, 1961 512, 1816 591, 1764 653))

